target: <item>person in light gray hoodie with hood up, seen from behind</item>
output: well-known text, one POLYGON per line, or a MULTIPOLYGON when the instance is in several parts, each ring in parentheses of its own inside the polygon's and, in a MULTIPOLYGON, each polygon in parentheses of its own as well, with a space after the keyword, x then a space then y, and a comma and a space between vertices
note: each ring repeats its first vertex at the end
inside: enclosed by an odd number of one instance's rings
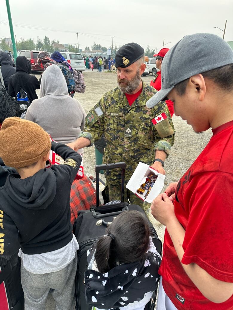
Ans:
MULTIPOLYGON (((40 125, 57 142, 67 144, 77 139, 86 114, 80 102, 68 95, 66 80, 55 64, 42 74, 40 97, 33 100, 25 119, 40 125)), ((83 154, 83 149, 78 153, 83 154)))

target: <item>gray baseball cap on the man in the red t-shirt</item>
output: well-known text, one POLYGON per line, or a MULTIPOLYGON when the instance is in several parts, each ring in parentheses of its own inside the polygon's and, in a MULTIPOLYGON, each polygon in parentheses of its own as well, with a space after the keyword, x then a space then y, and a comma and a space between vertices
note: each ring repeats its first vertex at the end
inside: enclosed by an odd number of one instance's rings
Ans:
POLYGON ((211 33, 185 36, 164 56, 161 67, 161 90, 146 105, 153 108, 174 86, 187 78, 233 63, 233 51, 222 38, 211 33))

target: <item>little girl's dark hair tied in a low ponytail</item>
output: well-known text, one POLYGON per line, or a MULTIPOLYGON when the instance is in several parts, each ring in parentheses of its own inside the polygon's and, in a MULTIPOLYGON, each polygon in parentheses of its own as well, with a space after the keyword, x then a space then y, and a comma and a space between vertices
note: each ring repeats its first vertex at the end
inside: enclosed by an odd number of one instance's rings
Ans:
POLYGON ((149 247, 150 228, 146 215, 125 211, 117 216, 96 245, 95 261, 101 273, 120 263, 144 258, 149 247))

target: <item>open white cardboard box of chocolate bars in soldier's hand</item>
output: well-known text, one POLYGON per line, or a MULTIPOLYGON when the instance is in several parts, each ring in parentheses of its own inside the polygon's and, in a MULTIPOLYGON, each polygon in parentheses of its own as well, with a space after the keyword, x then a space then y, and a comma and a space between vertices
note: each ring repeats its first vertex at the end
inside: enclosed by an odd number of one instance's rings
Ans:
POLYGON ((140 199, 152 203, 153 199, 156 198, 162 191, 162 188, 164 186, 164 179, 165 175, 158 173, 151 166, 144 164, 143 162, 139 162, 137 168, 135 169, 133 175, 131 176, 129 182, 126 185, 126 188, 128 188, 131 192, 135 193, 135 195, 137 195, 140 199), (137 193, 137 190, 140 188, 141 184, 146 182, 146 177, 151 173, 153 173, 154 175, 158 175, 158 178, 156 179, 153 187, 151 188, 150 193, 148 194, 146 199, 144 199, 143 196, 137 193))

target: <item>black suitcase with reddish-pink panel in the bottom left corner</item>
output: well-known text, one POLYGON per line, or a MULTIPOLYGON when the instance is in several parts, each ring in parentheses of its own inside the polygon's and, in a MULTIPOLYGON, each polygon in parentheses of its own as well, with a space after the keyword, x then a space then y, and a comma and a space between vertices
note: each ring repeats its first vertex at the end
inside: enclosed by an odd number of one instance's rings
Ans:
POLYGON ((0 255, 0 309, 23 310, 24 294, 18 254, 0 255))

